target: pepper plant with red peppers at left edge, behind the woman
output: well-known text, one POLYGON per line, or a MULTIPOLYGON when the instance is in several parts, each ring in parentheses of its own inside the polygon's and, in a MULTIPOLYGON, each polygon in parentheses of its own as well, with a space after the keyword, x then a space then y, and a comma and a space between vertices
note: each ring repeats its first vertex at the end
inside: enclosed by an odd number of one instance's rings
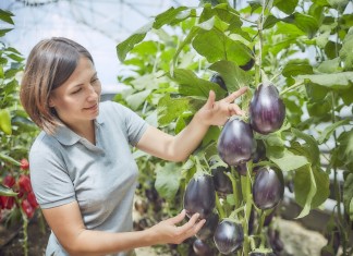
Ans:
POLYGON ((37 134, 19 99, 24 58, 1 39, 13 29, 13 14, 0 9, 0 219, 23 225, 24 255, 28 255, 27 224, 38 208, 29 181, 28 148, 37 134))

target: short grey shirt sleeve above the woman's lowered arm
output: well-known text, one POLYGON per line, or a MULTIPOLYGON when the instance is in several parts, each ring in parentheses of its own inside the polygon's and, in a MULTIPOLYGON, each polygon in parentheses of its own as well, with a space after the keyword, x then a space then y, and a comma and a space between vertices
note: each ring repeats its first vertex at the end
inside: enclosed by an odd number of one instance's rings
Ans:
POLYGON ((44 209, 75 200, 74 186, 59 148, 59 143, 48 145, 37 138, 29 151, 31 183, 44 209))

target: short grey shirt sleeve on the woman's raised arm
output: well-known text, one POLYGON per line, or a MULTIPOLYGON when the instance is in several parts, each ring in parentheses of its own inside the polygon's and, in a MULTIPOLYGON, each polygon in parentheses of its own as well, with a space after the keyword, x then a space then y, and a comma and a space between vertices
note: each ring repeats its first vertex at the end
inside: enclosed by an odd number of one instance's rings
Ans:
POLYGON ((147 122, 137 113, 120 103, 113 102, 113 106, 115 111, 118 111, 122 117, 129 143, 132 146, 136 146, 139 138, 148 127, 147 122))

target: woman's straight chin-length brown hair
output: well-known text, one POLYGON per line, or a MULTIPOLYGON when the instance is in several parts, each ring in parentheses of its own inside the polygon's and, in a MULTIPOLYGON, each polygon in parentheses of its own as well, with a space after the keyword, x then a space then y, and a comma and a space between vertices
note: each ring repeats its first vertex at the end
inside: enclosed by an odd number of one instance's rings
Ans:
POLYGON ((21 102, 29 118, 46 133, 52 134, 61 124, 49 107, 49 96, 70 77, 81 57, 94 63, 86 48, 63 37, 39 41, 28 56, 21 83, 21 102))

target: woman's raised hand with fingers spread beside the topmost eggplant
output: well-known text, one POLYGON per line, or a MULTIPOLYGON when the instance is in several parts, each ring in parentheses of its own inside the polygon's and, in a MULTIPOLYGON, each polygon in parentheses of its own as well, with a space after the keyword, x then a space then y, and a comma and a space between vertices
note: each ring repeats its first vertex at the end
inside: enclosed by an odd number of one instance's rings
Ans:
POLYGON ((247 87, 242 87, 219 101, 216 101, 215 92, 210 90, 207 102, 197 112, 199 120, 206 125, 223 125, 232 115, 243 115, 244 111, 234 100, 246 90, 247 87))

